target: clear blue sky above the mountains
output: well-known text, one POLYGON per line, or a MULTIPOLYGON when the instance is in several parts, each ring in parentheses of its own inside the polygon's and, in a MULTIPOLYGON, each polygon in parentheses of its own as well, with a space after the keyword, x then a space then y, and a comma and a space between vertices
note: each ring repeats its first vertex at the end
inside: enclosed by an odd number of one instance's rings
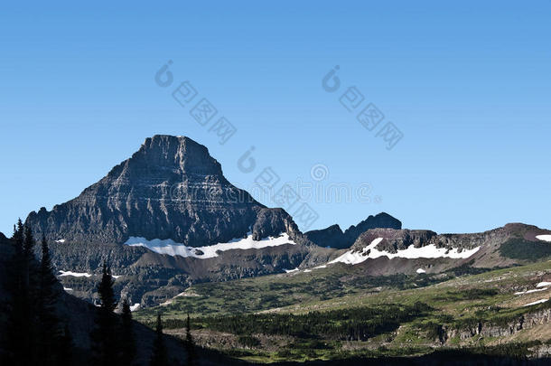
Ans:
POLYGON ((549 1, 264 3, 2 5, 0 231, 154 134, 207 145, 242 188, 264 166, 312 182, 314 164, 322 184, 371 185, 378 202, 310 202, 311 229, 379 211, 438 232, 551 228, 549 1), (341 89, 328 93, 335 65, 341 89), (173 100, 183 80, 238 128, 227 144, 173 100), (350 86, 400 128, 394 149, 341 106, 350 86))

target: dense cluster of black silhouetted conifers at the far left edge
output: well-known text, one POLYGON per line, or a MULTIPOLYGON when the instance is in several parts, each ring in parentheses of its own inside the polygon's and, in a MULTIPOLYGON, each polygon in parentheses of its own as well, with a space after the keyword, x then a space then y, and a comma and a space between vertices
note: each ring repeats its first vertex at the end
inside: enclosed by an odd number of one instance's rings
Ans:
POLYGON ((33 230, 21 220, 14 225, 13 256, 5 278, 9 293, 5 364, 67 365, 72 342, 67 324, 57 314, 60 289, 42 236, 42 258, 34 257, 33 230))

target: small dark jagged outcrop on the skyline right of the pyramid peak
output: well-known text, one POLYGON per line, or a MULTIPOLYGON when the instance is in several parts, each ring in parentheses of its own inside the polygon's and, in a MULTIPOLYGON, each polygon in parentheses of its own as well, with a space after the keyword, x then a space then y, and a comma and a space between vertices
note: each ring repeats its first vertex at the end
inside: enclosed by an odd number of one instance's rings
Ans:
POLYGON ((381 212, 375 216, 370 215, 366 220, 361 221, 358 225, 350 226, 344 232, 339 225, 332 225, 322 230, 307 231, 304 236, 320 247, 345 249, 350 248, 362 233, 376 228, 399 230, 402 229, 402 222, 386 212, 381 212))

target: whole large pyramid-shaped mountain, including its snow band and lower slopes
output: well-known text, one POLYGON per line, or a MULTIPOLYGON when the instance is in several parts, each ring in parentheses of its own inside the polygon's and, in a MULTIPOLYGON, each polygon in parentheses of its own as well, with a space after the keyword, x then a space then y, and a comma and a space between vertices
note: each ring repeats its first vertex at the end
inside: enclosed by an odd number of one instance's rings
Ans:
POLYGON ((79 197, 25 223, 50 242, 63 285, 92 302, 103 262, 118 294, 153 305, 192 283, 284 272, 317 248, 287 212, 229 183, 208 149, 182 136, 145 139, 79 197))

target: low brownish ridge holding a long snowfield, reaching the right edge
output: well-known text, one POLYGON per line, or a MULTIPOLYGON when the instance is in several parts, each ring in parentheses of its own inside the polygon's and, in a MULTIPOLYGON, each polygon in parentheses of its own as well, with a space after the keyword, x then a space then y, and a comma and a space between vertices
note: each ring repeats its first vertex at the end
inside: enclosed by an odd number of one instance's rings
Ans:
POLYGON ((549 232, 523 223, 468 234, 370 229, 350 249, 333 254, 332 261, 368 267, 376 276, 419 269, 438 273, 462 265, 509 267, 551 256, 551 245, 540 237, 549 232))

